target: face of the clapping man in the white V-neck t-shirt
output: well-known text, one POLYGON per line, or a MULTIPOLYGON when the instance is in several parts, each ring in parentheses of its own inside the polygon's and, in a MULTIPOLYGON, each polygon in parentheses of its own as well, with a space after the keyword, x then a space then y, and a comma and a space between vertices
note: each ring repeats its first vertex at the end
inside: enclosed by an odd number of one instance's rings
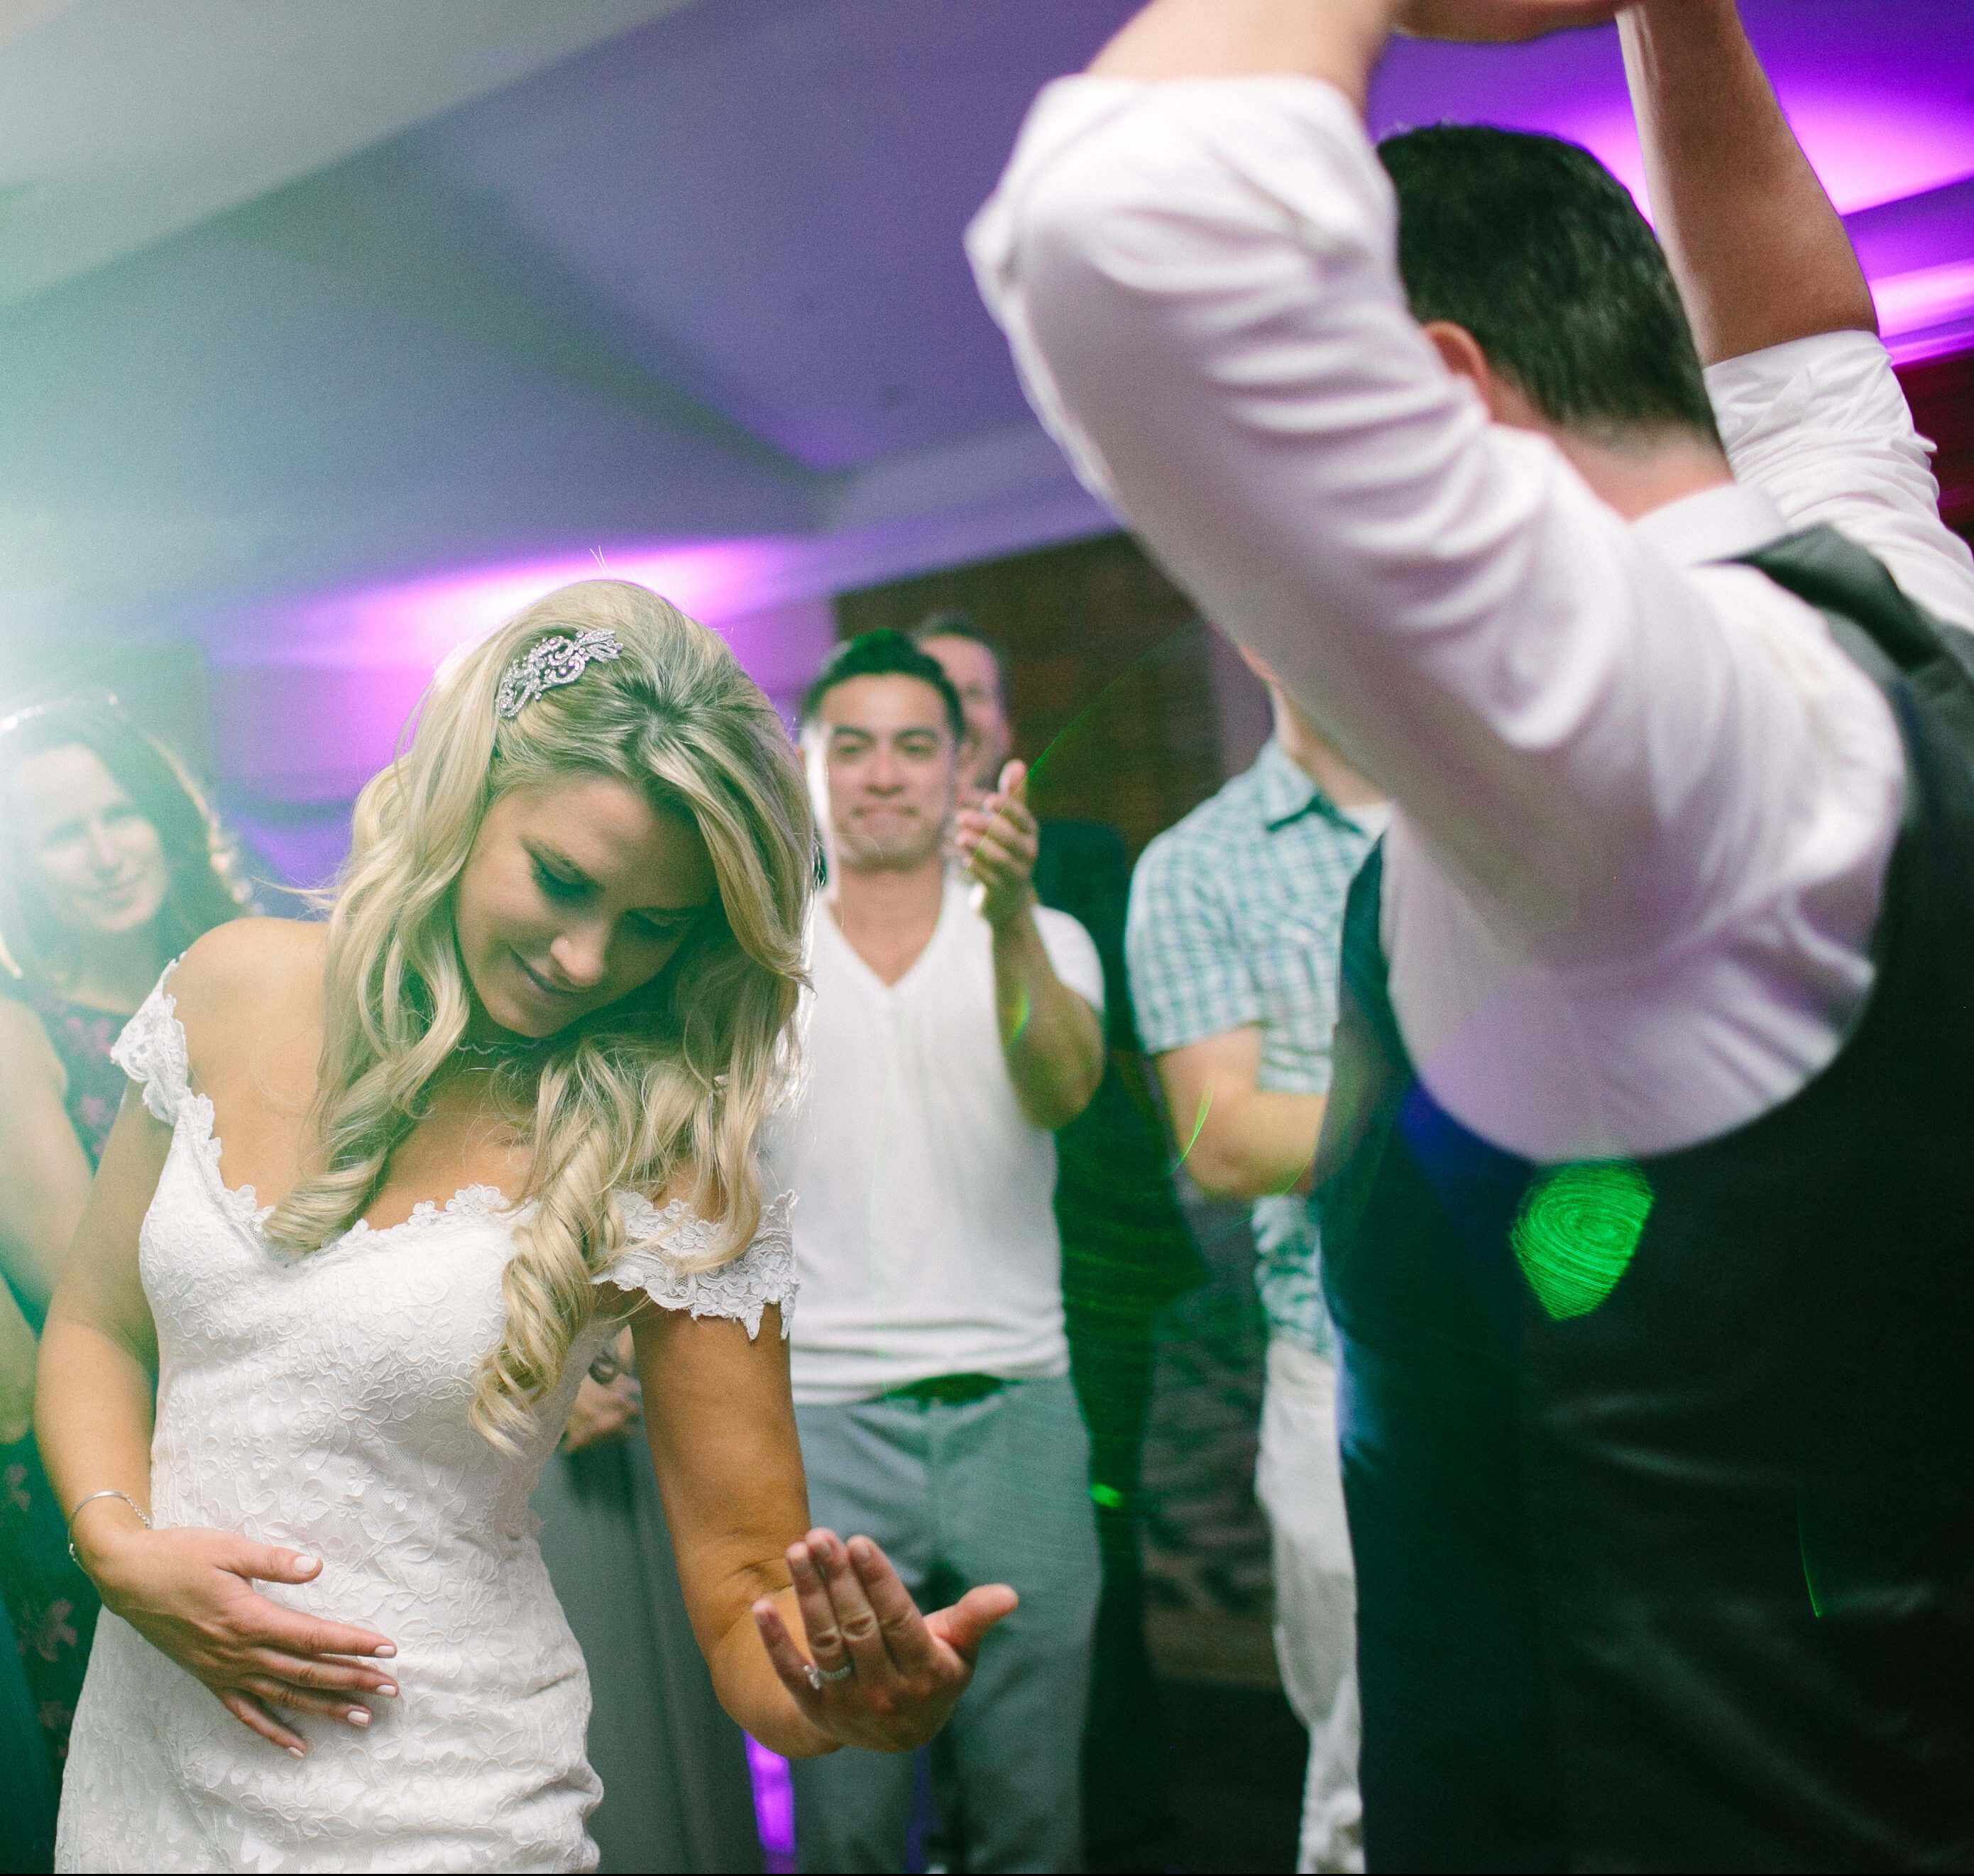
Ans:
POLYGON ((959 748, 930 683, 847 677, 817 705, 807 746, 831 865, 910 873, 940 863, 959 748))

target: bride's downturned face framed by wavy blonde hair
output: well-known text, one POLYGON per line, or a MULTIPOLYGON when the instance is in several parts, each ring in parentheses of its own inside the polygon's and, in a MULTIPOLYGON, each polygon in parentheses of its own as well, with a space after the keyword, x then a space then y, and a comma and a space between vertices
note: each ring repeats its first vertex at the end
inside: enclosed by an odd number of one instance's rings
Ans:
POLYGON ((628 782, 515 788, 460 873, 460 958, 499 1029, 555 1035, 649 983, 717 899, 693 821, 628 782))

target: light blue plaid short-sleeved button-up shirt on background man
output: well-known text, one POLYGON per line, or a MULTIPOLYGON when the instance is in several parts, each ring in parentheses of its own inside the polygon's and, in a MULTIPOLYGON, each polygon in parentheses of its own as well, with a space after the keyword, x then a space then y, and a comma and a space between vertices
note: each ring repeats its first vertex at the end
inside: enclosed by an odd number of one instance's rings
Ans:
MULTIPOLYGON (((1344 895, 1376 827, 1342 814, 1271 737, 1250 770, 1161 833, 1131 879, 1125 928, 1147 1055, 1253 1025, 1257 1086, 1327 1094, 1344 895)), ((1269 1333, 1332 1355, 1309 1203, 1257 1199, 1253 1236, 1269 1333)))

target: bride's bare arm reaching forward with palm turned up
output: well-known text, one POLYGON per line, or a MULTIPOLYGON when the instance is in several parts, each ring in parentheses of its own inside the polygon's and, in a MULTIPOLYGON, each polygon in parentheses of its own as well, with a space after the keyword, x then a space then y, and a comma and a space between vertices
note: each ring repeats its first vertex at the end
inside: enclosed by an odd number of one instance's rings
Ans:
POLYGON ((778 1309, 748 1341, 736 1321, 645 1305, 636 1341, 685 1607, 721 1704, 788 1758, 928 1740, 1015 1594, 979 1588, 920 1615, 876 1544, 809 1530, 778 1309), (855 1673, 813 1688, 807 1655, 855 1673))

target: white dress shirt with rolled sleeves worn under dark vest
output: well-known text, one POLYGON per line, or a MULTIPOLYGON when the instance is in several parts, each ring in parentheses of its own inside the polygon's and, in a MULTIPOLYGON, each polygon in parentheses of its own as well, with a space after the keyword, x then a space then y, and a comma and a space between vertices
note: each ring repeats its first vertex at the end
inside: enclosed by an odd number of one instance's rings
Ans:
POLYGON ((1064 79, 969 245, 1078 472, 1398 802, 1392 999, 1459 1122, 1662 1153, 1828 1066, 1903 752, 1812 608, 1708 563, 1828 521, 1974 626, 1875 340, 1717 367, 1741 484, 1629 525, 1413 324, 1329 85, 1064 79))

